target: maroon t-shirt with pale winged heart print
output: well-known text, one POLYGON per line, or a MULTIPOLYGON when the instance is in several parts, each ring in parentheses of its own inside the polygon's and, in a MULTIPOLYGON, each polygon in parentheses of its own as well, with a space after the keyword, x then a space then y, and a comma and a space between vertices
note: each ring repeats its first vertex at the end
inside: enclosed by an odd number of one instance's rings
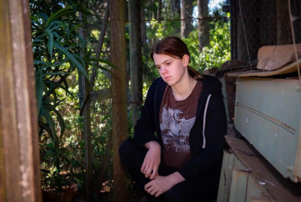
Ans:
POLYGON ((181 168, 191 159, 189 134, 195 122, 203 83, 198 81, 191 94, 181 101, 174 98, 167 85, 160 109, 160 128, 164 144, 163 157, 168 166, 181 168))

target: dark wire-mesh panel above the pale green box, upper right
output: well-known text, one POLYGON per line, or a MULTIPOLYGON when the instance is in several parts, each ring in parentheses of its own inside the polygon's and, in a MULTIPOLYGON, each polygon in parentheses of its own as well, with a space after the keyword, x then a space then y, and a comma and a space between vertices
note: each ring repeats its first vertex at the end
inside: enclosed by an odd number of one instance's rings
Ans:
POLYGON ((227 1, 231 13, 231 58, 253 61, 258 49, 268 45, 301 42, 300 0, 227 1), (291 29, 291 11, 293 29, 291 29), (293 30, 293 31, 292 31, 293 30), (292 32, 295 41, 292 40, 292 32))

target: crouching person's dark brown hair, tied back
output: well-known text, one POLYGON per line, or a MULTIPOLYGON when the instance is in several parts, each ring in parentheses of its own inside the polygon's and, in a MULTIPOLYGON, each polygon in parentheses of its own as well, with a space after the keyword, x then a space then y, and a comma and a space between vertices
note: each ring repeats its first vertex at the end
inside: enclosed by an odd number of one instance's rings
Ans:
MULTIPOLYGON (((166 37, 159 41, 153 47, 150 57, 154 61, 154 54, 165 54, 173 58, 183 58, 184 55, 188 55, 190 59, 190 53, 186 44, 178 37, 166 37)), ((203 80, 203 76, 188 65, 188 74, 195 80, 203 80)))

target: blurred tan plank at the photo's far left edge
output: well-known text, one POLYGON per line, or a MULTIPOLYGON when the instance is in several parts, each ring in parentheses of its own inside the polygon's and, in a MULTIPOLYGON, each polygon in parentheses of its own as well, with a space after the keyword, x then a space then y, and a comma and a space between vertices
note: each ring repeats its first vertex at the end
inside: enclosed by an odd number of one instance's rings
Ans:
POLYGON ((9 16, 9 2, 3 1, 0 4, 0 99, 1 99, 1 120, 3 142, 3 164, 4 164, 4 195, 2 201, 22 201, 21 186, 18 182, 21 179, 19 165, 19 142, 17 130, 17 118, 15 109, 14 75, 13 75, 13 55, 12 36, 9 16), (13 152, 9 152, 13 151, 13 152), (12 162, 11 159, 14 159, 12 162), (14 192, 10 191, 14 189, 14 192))

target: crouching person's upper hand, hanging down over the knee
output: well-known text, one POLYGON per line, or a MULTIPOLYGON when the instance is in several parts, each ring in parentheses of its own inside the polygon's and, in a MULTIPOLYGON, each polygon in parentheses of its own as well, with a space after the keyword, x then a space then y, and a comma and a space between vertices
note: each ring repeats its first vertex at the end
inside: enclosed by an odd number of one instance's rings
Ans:
POLYGON ((161 162, 161 146, 156 141, 146 142, 144 146, 148 151, 144 157, 141 172, 146 178, 154 179, 158 175, 158 168, 161 162))

